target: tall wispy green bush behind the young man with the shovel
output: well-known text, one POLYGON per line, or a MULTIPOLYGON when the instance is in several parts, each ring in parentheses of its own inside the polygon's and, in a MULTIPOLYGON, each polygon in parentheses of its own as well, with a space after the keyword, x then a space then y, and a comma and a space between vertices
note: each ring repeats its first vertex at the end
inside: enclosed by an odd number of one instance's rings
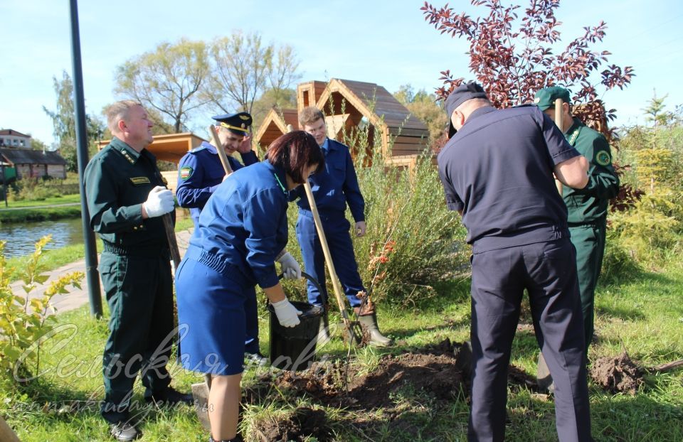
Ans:
MULTIPOLYGON (((356 173, 366 203, 366 235, 356 237, 351 232, 356 262, 375 301, 413 305, 435 296, 434 284, 438 281, 468 271, 470 248, 465 244, 460 216, 446 208, 433 157, 420 156, 411 170, 386 166, 379 153, 379 137, 373 137, 372 131, 372 126, 366 125, 344 137, 344 143, 356 153, 356 173), (366 154, 366 146, 371 145, 375 152, 372 157, 366 154)), ((353 226, 349 210, 346 216, 353 226)), ((290 207, 288 217, 288 249, 300 260, 295 232, 297 210, 290 207)), ((332 297, 329 272, 327 275, 332 297)), ((285 289, 290 296, 292 291, 304 293, 302 283, 287 281, 285 289)))

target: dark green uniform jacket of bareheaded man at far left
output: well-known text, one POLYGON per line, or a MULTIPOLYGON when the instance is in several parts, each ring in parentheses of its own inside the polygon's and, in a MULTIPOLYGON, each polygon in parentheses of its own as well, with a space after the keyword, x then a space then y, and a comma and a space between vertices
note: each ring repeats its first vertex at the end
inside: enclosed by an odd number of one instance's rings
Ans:
POLYGON ((118 247, 168 247, 162 217, 142 220, 149 191, 165 185, 157 158, 137 153, 116 137, 85 168, 90 227, 102 241, 118 247))

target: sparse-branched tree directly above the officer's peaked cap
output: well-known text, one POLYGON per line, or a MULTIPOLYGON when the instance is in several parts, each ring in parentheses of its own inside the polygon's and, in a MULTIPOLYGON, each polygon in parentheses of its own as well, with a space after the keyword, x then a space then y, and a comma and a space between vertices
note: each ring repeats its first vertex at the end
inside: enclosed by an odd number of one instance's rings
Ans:
POLYGON ((271 107, 290 101, 288 90, 301 77, 295 50, 289 45, 265 45, 258 33, 235 31, 217 38, 210 53, 212 75, 206 99, 223 113, 245 111, 263 119, 271 107), (261 103, 255 107, 257 99, 261 103))

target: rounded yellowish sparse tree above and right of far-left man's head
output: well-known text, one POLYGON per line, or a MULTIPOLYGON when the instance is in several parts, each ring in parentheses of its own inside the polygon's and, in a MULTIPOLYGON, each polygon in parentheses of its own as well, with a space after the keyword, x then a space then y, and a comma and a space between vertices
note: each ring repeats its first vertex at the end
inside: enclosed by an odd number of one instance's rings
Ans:
POLYGON ((206 43, 181 38, 119 66, 115 92, 142 103, 148 112, 156 109, 170 123, 159 128, 179 133, 192 112, 206 104, 199 92, 209 72, 206 43))

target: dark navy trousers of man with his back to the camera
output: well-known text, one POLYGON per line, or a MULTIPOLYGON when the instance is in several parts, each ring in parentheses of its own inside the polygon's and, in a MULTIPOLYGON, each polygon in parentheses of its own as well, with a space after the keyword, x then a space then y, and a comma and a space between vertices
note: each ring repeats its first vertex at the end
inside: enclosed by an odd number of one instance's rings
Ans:
POLYGON ((536 340, 555 382, 559 441, 591 441, 583 318, 569 239, 473 255, 468 440, 504 440, 507 371, 524 289, 536 340))

